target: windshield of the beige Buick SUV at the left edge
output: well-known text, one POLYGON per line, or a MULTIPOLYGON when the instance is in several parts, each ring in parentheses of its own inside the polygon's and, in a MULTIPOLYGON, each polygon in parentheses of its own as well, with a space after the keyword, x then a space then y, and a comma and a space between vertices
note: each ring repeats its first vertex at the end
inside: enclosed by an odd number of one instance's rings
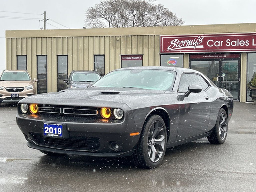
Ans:
POLYGON ((30 81, 30 77, 27 72, 7 71, 2 73, 0 80, 1 81, 30 81))

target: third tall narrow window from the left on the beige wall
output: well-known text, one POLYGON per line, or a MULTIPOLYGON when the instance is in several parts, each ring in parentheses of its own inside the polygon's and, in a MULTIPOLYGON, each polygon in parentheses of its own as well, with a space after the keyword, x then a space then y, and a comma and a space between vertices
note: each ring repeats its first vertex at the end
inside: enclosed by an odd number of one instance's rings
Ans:
POLYGON ((67 55, 58 55, 58 76, 57 76, 57 90, 61 91, 66 89, 66 83, 63 82, 64 79, 68 79, 68 56, 67 55))

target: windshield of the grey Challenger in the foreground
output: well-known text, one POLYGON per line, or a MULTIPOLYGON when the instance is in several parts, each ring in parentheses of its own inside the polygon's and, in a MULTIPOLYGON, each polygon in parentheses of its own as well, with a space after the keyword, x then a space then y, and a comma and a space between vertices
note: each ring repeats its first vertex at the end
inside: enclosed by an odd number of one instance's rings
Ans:
POLYGON ((130 87, 150 90, 172 90, 176 73, 166 70, 126 69, 106 74, 92 87, 130 87))

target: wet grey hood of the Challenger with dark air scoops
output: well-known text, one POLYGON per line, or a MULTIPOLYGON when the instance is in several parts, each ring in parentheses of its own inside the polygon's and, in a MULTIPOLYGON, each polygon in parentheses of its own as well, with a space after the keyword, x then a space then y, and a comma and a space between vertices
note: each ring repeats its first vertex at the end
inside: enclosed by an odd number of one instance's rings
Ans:
POLYGON ((60 92, 38 94, 22 99, 20 102, 38 104, 60 104, 80 106, 106 106, 113 103, 133 105, 134 103, 157 100, 166 91, 134 88, 86 88, 68 89, 60 92))

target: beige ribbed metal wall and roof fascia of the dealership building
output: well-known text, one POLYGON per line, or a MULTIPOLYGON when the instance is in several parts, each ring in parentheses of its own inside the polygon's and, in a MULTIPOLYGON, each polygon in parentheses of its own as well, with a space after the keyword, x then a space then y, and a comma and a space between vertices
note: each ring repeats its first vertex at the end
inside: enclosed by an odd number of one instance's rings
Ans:
MULTIPOLYGON (((255 32, 256 23, 147 28, 100 28, 6 31, 6 69, 16 69, 17 55, 27 55, 36 78, 36 56, 47 55, 48 92, 57 90, 57 55, 68 55, 68 73, 93 70, 94 55, 105 55, 105 73, 121 67, 121 54, 142 54, 143 66, 160 65, 160 35, 255 32)), ((188 54, 184 67, 188 68, 188 54)), ((246 54, 241 58, 241 101, 246 101, 246 54), (244 79, 244 80, 243 80, 244 79)))

